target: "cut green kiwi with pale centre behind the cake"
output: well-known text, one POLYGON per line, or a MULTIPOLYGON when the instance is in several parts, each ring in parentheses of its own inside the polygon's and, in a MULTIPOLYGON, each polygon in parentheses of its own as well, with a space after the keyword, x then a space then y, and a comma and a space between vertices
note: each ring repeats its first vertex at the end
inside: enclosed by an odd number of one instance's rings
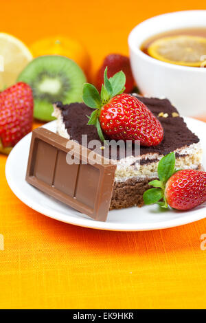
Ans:
POLYGON ((52 103, 82 102, 82 87, 86 77, 82 69, 65 56, 39 56, 19 75, 22 81, 32 87, 34 96, 34 118, 54 120, 52 103))

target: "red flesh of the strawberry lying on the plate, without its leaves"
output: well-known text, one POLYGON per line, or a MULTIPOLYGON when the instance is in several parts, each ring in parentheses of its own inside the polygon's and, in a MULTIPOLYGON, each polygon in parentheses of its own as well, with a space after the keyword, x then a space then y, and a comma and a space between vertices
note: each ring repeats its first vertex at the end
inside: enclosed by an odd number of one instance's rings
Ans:
POLYGON ((165 198, 176 210, 190 210, 206 201, 206 172, 179 170, 165 186, 165 198))

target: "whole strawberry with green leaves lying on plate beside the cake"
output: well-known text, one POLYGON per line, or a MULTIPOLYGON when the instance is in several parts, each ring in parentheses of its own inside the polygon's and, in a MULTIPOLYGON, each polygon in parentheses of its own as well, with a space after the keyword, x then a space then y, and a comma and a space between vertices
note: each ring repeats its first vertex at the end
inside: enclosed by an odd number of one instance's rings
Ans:
POLYGON ((158 164, 159 180, 150 181, 155 188, 146 190, 145 204, 158 203, 163 208, 190 210, 206 201, 206 172, 175 169, 175 154, 164 156, 158 164))

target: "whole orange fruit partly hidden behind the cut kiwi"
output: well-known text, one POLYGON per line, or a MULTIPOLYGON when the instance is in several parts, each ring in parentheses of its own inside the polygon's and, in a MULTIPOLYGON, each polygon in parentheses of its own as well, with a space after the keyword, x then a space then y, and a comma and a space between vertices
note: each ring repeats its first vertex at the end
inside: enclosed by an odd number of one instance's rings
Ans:
POLYGON ((85 72, 89 74, 91 60, 87 49, 80 41, 69 36, 52 36, 43 38, 30 46, 34 57, 43 55, 61 55, 74 60, 85 72))

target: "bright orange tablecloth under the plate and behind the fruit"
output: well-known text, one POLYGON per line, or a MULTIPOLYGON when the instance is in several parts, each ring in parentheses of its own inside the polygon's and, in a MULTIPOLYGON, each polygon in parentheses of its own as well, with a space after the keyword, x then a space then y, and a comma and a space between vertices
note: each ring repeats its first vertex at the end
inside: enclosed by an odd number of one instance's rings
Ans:
MULTIPOLYGON (((82 40, 93 71, 108 53, 128 54, 128 33, 144 19, 206 9, 203 0, 196 5, 188 0, 1 0, 0 7, 1 31, 27 45, 56 34, 82 40)), ((5 181, 5 161, 1 155, 0 308, 205 308, 206 250, 200 244, 206 219, 155 232, 103 232, 60 223, 14 196, 5 181)))

